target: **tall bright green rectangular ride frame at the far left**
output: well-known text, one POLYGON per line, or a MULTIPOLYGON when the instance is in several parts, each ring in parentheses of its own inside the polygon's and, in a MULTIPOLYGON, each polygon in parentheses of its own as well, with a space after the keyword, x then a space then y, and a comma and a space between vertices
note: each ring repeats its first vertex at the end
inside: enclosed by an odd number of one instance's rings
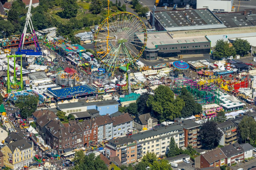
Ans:
POLYGON ((12 91, 21 91, 23 90, 23 78, 22 78, 22 55, 7 55, 7 92, 11 93, 12 91), (15 62, 16 58, 20 57, 20 81, 16 77, 16 67, 15 62), (9 58, 14 58, 14 69, 13 69, 13 80, 10 81, 9 74, 9 58))

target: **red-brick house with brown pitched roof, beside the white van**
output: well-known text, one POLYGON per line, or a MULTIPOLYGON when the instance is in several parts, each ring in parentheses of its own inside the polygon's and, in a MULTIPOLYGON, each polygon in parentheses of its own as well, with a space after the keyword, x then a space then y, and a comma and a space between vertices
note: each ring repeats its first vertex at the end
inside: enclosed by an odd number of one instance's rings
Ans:
POLYGON ((227 156, 218 148, 195 158, 195 168, 220 167, 227 164, 227 156))

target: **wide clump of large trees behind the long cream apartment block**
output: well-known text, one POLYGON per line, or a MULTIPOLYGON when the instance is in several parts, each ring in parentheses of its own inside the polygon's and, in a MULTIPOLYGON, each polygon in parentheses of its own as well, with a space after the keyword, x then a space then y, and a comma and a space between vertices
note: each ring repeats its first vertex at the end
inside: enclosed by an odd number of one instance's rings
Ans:
POLYGON ((202 112, 202 106, 195 102, 193 95, 182 88, 180 96, 174 98, 175 94, 169 87, 160 85, 155 94, 142 93, 128 107, 120 107, 120 112, 128 112, 134 116, 153 113, 159 121, 173 120, 176 117, 188 117, 202 112))

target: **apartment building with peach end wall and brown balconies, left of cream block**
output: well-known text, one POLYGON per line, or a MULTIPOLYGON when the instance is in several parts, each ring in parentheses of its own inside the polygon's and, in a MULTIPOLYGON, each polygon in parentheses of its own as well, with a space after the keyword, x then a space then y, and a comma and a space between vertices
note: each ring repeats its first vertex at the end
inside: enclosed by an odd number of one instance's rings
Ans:
POLYGON ((137 143, 131 136, 109 140, 105 149, 107 157, 118 156, 122 164, 137 161, 137 143))

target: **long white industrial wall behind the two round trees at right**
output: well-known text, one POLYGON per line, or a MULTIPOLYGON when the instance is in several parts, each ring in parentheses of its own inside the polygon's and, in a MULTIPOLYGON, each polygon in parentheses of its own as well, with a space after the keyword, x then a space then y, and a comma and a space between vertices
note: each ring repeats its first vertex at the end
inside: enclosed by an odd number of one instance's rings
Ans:
POLYGON ((242 38, 242 37, 255 37, 255 36, 256 36, 256 32, 240 33, 240 34, 225 34, 225 32, 222 32, 222 34, 219 34, 219 35, 206 35, 206 37, 211 41, 211 47, 214 47, 216 45, 217 40, 219 39, 228 41, 229 38, 242 38))

